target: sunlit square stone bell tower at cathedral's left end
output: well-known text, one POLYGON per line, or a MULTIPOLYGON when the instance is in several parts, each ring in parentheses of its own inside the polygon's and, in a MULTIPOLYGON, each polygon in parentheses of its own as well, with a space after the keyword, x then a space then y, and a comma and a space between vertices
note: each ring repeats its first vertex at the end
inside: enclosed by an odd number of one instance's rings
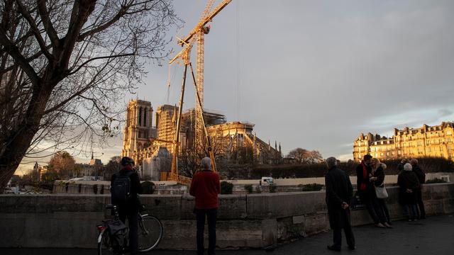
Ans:
MULTIPOLYGON (((156 137, 156 130, 152 128, 153 107, 148 101, 132 100, 128 103, 126 126, 123 132, 123 151, 121 156, 133 157, 136 152, 150 146, 150 138, 156 137)), ((137 164, 137 163, 136 163, 137 164)))

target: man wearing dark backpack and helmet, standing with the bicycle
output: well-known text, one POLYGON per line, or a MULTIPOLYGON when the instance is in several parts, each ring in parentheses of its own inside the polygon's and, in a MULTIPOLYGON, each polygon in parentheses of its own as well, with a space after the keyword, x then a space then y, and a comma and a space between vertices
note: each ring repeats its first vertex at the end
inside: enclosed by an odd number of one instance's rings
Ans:
POLYGON ((117 206, 120 220, 125 223, 128 217, 129 249, 131 254, 138 254, 138 194, 142 193, 142 187, 133 167, 134 160, 130 157, 121 159, 121 170, 111 179, 111 199, 117 206))

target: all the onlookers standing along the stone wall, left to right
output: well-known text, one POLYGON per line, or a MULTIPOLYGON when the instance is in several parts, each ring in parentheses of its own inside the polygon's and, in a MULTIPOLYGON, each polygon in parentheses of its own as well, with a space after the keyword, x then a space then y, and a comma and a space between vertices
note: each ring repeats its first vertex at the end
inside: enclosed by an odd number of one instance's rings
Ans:
MULTIPOLYGON (((328 173, 325 176, 326 205, 331 229, 333 229, 333 244, 328 249, 341 251, 342 229, 345 232, 349 249, 356 249, 355 237, 350 224, 350 204, 353 198, 353 186, 350 177, 345 171, 338 168, 338 160, 334 157, 326 159, 328 173)), ((138 252, 138 218, 140 208, 138 194, 141 193, 138 174, 133 171, 134 161, 131 158, 121 159, 121 170, 112 176, 111 186, 122 178, 128 178, 131 183, 131 197, 127 203, 113 203, 118 206, 121 221, 128 217, 129 240, 131 254, 138 252)), ((386 164, 369 154, 363 157, 361 164, 356 168, 357 189, 360 200, 367 208, 375 226, 391 228, 391 218, 385 198, 377 196, 377 190, 384 187, 384 170, 386 164)), ((424 210, 421 186, 425 182, 425 174, 418 165, 417 159, 403 159, 399 168, 399 203, 404 208, 407 220, 424 219, 424 210)), ((196 215, 196 242, 197 254, 204 254, 204 225, 208 222, 209 246, 208 254, 214 255, 216 247, 216 217, 218 208, 218 194, 221 193, 219 175, 211 170, 211 159, 201 159, 201 170, 192 178, 189 194, 195 197, 194 214, 196 215)))

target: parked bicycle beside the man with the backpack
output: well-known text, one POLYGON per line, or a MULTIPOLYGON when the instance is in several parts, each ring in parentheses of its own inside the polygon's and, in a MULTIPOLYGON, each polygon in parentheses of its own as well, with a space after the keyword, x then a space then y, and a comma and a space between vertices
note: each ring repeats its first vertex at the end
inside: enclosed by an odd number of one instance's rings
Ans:
MULTIPOLYGON (((125 254, 128 252, 128 228, 121 222, 116 205, 106 205, 106 209, 114 210, 114 220, 103 220, 101 224, 96 225, 99 230, 98 255, 125 254), (113 225, 123 225, 126 229, 123 233, 125 238, 123 244, 114 243, 114 237, 110 231, 113 225)), ((157 247, 162 239, 164 228, 161 221, 153 215, 141 215, 139 212, 138 218, 138 251, 145 253, 157 247)))

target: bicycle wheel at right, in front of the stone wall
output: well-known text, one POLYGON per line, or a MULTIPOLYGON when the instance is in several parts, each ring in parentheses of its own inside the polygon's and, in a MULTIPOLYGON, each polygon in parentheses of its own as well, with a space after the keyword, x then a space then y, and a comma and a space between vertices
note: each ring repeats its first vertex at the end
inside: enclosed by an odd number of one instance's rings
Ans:
POLYGON ((161 221, 155 216, 147 215, 139 220, 139 252, 155 249, 162 239, 163 229, 161 221))

